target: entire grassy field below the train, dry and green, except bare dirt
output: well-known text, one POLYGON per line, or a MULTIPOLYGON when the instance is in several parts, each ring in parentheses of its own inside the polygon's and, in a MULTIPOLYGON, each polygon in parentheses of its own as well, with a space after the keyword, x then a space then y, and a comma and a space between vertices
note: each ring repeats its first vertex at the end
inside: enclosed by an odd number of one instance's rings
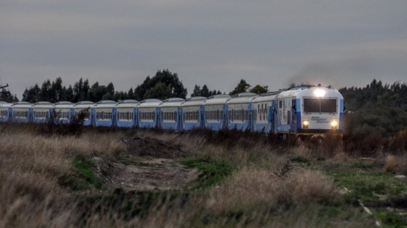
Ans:
MULTIPOLYGON (((395 177, 407 174, 407 155, 390 146, 361 151, 349 139, 299 144, 236 131, 61 136, 35 125, 1 128, 0 227, 407 225, 407 180, 395 177), (132 138, 179 148, 172 162, 197 169, 197 179, 182 190, 108 187, 97 172, 107 177, 109 170, 98 170, 95 158, 135 166, 154 158, 129 156, 123 139, 132 138)), ((406 141, 400 133, 388 144, 406 141)))

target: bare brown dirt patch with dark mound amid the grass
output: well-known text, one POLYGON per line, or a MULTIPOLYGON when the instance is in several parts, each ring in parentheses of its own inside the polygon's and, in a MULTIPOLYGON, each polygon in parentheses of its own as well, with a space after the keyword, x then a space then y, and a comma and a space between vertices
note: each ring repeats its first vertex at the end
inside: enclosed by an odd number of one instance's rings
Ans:
POLYGON ((124 159, 106 162, 95 157, 96 173, 109 189, 125 191, 152 191, 182 189, 198 177, 198 172, 178 164, 175 158, 184 157, 183 151, 156 139, 123 139, 126 143, 124 159))

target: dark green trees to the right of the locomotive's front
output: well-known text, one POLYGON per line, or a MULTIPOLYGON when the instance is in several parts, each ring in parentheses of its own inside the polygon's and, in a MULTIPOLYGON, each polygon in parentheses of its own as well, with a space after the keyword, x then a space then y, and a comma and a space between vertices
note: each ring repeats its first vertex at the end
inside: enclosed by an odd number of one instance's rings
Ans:
POLYGON ((348 110, 347 135, 389 137, 407 130, 407 84, 373 80, 363 88, 339 89, 348 110))

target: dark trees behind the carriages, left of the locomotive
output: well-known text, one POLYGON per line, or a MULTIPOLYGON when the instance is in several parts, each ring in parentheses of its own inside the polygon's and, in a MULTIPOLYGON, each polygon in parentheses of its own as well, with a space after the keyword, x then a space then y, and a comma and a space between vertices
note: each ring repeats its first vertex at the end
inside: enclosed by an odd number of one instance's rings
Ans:
MULTIPOLYGON (((242 92, 253 93, 265 93, 267 92, 267 86, 257 85, 253 88, 246 83, 245 80, 241 80, 234 90, 229 92, 229 95, 234 95, 242 92)), ((203 85, 202 88, 195 85, 191 97, 203 96, 210 97, 212 95, 221 94, 219 90, 209 90, 207 85, 203 85)), ((3 96, 0 99, 7 102, 18 101, 17 96, 11 96, 10 92, 4 93, 7 96, 3 96)), ((171 97, 180 97, 186 99, 187 89, 182 84, 177 73, 173 73, 168 69, 158 70, 154 77, 147 76, 142 84, 137 85, 135 89, 130 88, 128 91, 115 91, 113 83, 109 83, 106 86, 100 85, 98 82, 91 85, 89 80, 79 79, 74 85, 68 87, 63 86, 61 78, 56 78, 55 81, 49 79, 44 81, 41 87, 38 84, 26 88, 22 94, 22 101, 35 103, 38 101, 49 101, 56 103, 59 101, 71 101, 73 103, 89 100, 98 102, 101 100, 144 100, 149 98, 156 98, 165 100, 171 97)))

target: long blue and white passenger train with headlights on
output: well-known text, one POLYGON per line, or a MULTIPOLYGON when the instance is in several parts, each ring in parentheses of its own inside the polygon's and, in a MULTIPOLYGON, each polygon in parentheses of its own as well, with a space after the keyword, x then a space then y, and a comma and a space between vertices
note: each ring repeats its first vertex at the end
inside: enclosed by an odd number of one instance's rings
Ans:
POLYGON ((60 101, 37 103, 0 101, 0 120, 45 123, 52 111, 69 124, 83 109, 83 125, 94 127, 160 128, 178 132, 207 128, 238 129, 287 135, 322 136, 343 132, 343 96, 332 87, 302 85, 265 94, 239 93, 189 99, 146 99, 99 102, 60 101))

